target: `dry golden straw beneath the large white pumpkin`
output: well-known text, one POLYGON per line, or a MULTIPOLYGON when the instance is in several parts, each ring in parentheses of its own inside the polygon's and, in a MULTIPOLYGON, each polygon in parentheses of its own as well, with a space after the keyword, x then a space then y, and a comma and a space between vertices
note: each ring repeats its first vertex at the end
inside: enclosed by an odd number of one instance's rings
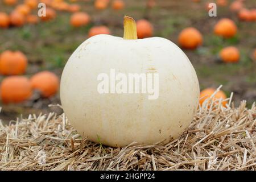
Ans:
POLYGON ((81 139, 64 114, 0 122, 0 170, 255 170, 256 106, 228 100, 226 108, 204 102, 188 130, 165 146, 101 146, 81 139))

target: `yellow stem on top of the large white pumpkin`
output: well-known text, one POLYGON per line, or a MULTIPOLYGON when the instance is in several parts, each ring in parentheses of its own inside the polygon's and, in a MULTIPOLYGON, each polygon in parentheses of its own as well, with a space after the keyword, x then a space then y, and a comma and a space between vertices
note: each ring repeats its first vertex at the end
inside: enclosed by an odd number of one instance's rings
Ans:
POLYGON ((133 18, 130 16, 123 17, 123 39, 132 40, 137 38, 137 25, 133 18))

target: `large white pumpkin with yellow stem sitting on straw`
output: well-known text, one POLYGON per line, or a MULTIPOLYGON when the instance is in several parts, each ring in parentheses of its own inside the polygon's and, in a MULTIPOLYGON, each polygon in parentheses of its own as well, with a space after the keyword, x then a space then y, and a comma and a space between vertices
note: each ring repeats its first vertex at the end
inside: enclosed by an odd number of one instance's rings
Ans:
POLYGON ((69 122, 93 142, 114 147, 166 143, 192 122, 199 82, 179 47, 164 38, 137 39, 134 20, 125 16, 124 38, 93 36, 73 52, 61 76, 60 98, 69 122), (158 97, 99 93, 98 76, 113 69, 125 75, 158 73, 158 97))

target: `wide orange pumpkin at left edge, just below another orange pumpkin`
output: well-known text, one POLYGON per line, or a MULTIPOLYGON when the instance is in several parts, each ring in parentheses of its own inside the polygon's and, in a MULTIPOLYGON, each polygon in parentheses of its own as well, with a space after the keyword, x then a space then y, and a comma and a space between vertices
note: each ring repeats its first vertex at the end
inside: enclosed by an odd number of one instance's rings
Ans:
POLYGON ((27 100, 32 95, 30 81, 24 76, 9 76, 1 83, 2 102, 9 104, 27 100))

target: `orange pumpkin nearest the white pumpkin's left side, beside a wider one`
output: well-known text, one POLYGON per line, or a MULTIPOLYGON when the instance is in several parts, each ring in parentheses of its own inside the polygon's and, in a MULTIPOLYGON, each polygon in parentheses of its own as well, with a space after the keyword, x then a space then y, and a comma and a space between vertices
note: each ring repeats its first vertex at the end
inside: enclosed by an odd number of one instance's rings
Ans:
POLYGON ((52 72, 43 71, 30 78, 32 89, 37 89, 43 97, 51 97, 59 90, 59 78, 52 72))

